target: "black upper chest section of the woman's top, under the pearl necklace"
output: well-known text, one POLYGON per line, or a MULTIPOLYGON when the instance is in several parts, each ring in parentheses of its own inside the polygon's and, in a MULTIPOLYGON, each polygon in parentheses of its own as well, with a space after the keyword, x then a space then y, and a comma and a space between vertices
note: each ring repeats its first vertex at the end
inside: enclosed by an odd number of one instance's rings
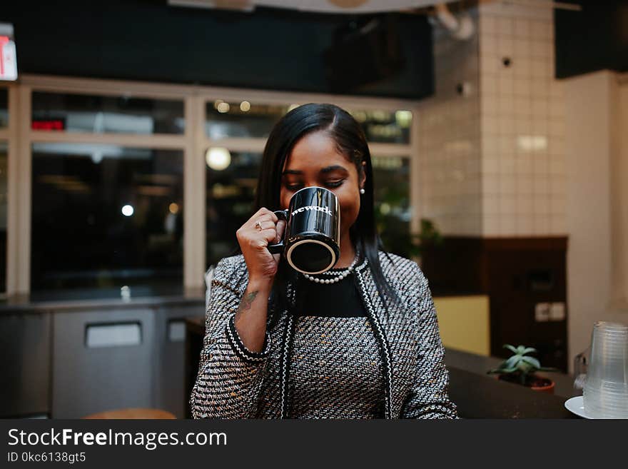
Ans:
MULTIPOLYGON (((345 271, 331 269, 330 272, 345 271)), ((318 275, 318 278, 333 278, 334 276, 318 275)), ((360 298, 360 291, 355 285, 355 274, 352 272, 343 280, 336 283, 315 283, 303 278, 300 282, 300 293, 303 301, 301 308, 297 308, 294 316, 323 316, 327 318, 359 318, 365 317, 366 312, 360 298)))

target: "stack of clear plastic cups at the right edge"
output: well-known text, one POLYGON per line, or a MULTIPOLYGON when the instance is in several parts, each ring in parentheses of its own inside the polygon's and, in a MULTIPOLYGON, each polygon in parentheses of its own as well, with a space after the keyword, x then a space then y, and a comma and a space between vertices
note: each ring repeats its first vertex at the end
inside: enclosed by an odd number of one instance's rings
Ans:
POLYGON ((584 410, 593 418, 628 418, 628 326, 595 323, 584 410))

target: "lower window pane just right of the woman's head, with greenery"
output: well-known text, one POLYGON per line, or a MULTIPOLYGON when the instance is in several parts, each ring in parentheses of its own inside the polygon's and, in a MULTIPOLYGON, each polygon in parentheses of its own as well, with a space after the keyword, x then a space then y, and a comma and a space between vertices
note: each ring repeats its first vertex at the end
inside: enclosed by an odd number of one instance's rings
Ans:
POLYGON ((373 156, 375 222, 385 248, 399 256, 413 255, 410 237, 410 158, 373 156))

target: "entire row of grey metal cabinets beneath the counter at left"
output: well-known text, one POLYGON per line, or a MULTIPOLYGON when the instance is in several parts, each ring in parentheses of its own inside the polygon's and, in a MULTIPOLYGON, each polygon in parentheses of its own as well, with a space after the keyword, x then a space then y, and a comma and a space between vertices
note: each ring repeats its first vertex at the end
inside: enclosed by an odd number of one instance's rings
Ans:
POLYGON ((203 301, 71 304, 0 314, 0 418, 118 408, 186 415, 185 318, 203 301))

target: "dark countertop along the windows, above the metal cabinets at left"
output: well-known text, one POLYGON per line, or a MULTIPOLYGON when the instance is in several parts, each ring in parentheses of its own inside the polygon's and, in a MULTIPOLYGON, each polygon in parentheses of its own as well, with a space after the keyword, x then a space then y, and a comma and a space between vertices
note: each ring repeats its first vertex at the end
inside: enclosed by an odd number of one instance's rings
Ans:
POLYGON ((168 305, 200 306, 205 304, 205 289, 131 287, 130 296, 122 298, 120 288, 81 289, 16 295, 0 300, 0 315, 16 312, 56 310, 127 309, 168 305))

